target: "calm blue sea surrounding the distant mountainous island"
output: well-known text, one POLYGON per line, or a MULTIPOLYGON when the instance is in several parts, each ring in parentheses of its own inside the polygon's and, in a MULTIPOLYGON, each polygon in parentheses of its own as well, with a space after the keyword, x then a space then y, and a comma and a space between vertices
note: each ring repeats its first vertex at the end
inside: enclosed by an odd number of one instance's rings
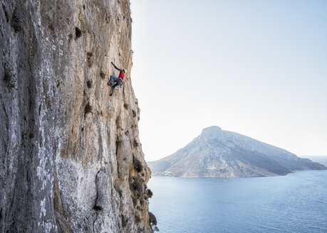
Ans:
MULTIPOLYGON (((327 157, 317 161, 327 166, 327 157)), ((256 178, 153 176, 147 186, 162 233, 327 232, 327 170, 256 178)))

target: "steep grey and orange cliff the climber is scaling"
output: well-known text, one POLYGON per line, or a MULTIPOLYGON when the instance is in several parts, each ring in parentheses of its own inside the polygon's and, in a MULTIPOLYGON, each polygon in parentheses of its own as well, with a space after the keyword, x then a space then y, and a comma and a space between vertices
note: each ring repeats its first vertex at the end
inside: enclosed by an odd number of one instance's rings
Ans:
POLYGON ((152 232, 130 2, 0 7, 0 232, 152 232))

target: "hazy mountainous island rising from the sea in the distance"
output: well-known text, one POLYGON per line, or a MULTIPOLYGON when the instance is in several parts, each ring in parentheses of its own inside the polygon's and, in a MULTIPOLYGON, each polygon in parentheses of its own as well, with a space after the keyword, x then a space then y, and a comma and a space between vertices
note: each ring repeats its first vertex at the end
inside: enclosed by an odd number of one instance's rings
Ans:
POLYGON ((320 163, 217 126, 203 129, 184 148, 148 164, 154 175, 185 177, 269 176, 327 169, 320 163))

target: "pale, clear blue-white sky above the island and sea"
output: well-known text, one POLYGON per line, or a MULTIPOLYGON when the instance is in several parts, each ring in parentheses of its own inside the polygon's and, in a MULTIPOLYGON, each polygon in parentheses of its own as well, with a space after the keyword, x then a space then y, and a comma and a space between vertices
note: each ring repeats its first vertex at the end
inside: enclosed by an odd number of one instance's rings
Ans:
POLYGON ((146 161, 220 126, 327 155, 326 0, 131 0, 146 161))

